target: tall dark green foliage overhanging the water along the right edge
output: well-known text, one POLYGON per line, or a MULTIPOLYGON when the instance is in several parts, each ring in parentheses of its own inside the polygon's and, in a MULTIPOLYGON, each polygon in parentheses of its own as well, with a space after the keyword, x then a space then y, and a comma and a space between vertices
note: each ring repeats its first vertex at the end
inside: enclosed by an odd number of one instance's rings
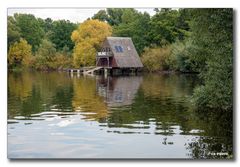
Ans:
MULTIPOLYGON (((232 111, 233 109, 233 11, 201 9, 193 11, 193 39, 204 54, 204 85, 195 90, 198 110, 232 111), (213 91, 214 90, 214 91, 213 91)), ((201 54, 201 55, 200 55, 201 54)))

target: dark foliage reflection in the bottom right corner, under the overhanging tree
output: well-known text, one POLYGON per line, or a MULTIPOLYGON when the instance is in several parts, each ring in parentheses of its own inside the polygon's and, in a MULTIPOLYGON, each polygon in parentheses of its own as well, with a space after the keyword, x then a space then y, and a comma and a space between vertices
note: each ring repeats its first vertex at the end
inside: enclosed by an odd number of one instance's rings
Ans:
POLYGON ((195 118, 205 133, 187 146, 193 158, 232 158, 232 113, 196 113, 195 118))

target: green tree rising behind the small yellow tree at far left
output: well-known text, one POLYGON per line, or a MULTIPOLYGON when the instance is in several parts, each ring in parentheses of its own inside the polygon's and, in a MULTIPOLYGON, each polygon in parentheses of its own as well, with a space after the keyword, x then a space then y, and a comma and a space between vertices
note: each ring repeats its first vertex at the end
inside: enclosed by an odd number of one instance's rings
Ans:
POLYGON ((14 19, 20 29, 21 37, 32 45, 32 50, 35 52, 44 36, 44 31, 39 21, 31 14, 14 14, 14 19))

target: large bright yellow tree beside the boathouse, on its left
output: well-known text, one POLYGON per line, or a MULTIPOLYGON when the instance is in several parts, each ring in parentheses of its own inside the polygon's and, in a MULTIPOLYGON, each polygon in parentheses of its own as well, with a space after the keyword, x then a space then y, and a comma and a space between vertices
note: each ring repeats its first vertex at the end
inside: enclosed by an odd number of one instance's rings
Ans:
POLYGON ((75 67, 95 64, 95 54, 107 36, 111 36, 109 24, 99 20, 86 20, 73 31, 71 39, 75 42, 73 64, 75 67))

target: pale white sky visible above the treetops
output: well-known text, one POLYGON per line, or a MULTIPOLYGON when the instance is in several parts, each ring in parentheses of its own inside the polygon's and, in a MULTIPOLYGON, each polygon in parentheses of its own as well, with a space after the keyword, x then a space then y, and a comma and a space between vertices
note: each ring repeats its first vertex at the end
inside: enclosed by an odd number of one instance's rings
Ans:
MULTIPOLYGON (((99 10, 105 8, 8 8, 8 15, 13 16, 14 13, 33 14, 35 17, 42 19, 51 18, 52 20, 70 20, 74 23, 81 23, 89 17, 92 17, 99 10)), ((155 12, 153 8, 136 8, 140 12, 147 12, 153 16, 155 12)))

